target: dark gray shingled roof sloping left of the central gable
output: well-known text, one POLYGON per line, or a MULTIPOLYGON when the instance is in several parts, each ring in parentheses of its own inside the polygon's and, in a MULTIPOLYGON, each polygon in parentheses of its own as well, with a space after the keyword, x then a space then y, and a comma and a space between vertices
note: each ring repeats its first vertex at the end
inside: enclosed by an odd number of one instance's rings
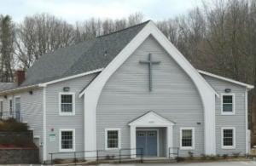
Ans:
POLYGON ((26 72, 20 87, 45 83, 61 77, 104 68, 149 22, 131 26, 90 41, 44 54, 26 72))

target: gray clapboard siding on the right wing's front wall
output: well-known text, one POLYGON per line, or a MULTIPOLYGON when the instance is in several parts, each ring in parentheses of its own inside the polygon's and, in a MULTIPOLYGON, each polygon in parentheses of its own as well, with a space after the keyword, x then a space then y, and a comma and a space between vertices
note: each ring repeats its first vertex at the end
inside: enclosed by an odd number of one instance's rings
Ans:
POLYGON ((224 93, 224 89, 231 89, 231 93, 235 94, 236 114, 221 115, 221 100, 216 97, 216 152, 220 155, 232 154, 233 152, 246 153, 246 129, 245 129, 245 87, 241 87, 234 83, 219 80, 214 77, 203 77, 210 83, 219 94, 224 93), (225 150, 221 148, 221 127, 236 128, 236 149, 225 150))

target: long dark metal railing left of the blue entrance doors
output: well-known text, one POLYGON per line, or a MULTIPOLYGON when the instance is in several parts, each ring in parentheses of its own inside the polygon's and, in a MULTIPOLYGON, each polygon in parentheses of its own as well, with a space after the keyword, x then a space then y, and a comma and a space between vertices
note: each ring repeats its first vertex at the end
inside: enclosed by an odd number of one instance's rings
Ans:
MULTIPOLYGON (((133 148, 133 149, 123 148, 119 150, 96 150, 96 151, 80 151, 80 152, 50 152, 49 155, 50 155, 51 165, 55 163, 56 159, 61 159, 57 157, 57 156, 60 157, 61 155, 63 157, 65 156, 65 158, 67 158, 67 155, 69 155, 71 157, 69 159, 73 159, 73 163, 75 165, 79 161, 79 156, 84 160, 86 159, 95 160, 96 163, 99 163, 101 160, 116 160, 119 163, 122 163, 127 159, 131 160, 132 157, 135 156, 135 157, 139 157, 140 163, 143 163, 143 148, 133 148), (139 150, 138 153, 137 153, 137 150, 139 150), (127 153, 124 153, 124 152, 127 152, 127 153), (89 155, 86 155, 86 154, 89 154, 89 155)), ((135 158, 135 161, 137 161, 137 158, 135 158)))

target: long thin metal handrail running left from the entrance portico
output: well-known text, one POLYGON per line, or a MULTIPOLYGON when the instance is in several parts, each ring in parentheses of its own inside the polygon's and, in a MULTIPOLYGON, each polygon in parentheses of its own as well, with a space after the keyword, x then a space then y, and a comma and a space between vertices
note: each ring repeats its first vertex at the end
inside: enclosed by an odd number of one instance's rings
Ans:
MULTIPOLYGON (((73 161, 74 164, 77 164, 77 159, 78 153, 89 153, 89 152, 94 152, 96 154, 96 156, 92 156, 92 157, 83 157, 84 159, 90 159, 90 158, 95 158, 96 159, 96 163, 99 163, 100 158, 104 157, 108 157, 108 154, 106 155, 100 155, 99 152, 109 152, 111 150, 96 150, 96 151, 79 151, 79 152, 49 152, 50 155, 50 164, 53 165, 53 160, 54 160, 54 155, 57 154, 73 154, 73 161)), ((117 160, 119 160, 119 163, 122 162, 122 160, 124 160, 124 157, 131 157, 131 156, 140 156, 140 162, 143 163, 143 148, 122 148, 122 149, 118 149, 118 150, 112 150, 114 152, 117 152, 117 155, 113 155, 114 157, 118 157, 116 158, 117 160), (136 152, 134 154, 130 153, 130 154, 123 154, 122 152, 124 151, 132 151, 132 150, 136 150, 136 152), (137 150, 140 150, 139 153, 137 153, 137 150)), ((107 159, 108 160, 108 159, 107 159)))

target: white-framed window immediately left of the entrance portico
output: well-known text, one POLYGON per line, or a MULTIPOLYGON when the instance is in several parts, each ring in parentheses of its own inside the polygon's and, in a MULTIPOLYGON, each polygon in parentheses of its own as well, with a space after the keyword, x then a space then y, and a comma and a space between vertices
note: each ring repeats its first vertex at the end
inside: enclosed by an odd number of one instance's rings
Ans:
POLYGON ((120 148, 120 129, 106 129, 105 131, 105 148, 119 149, 120 148))

